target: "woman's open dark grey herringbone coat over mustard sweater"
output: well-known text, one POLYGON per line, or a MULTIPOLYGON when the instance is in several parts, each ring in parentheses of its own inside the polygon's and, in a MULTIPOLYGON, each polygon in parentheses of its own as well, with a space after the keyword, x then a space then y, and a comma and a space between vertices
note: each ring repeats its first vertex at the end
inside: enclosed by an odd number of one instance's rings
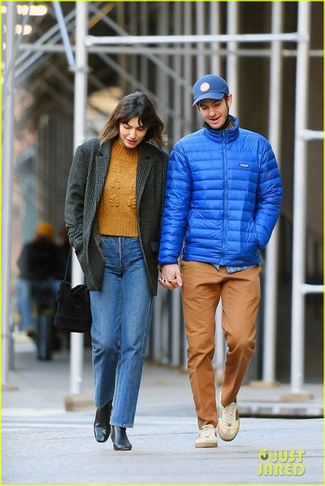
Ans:
MULTIPOLYGON (((65 201, 69 240, 75 248, 86 285, 100 290, 104 276, 97 210, 110 165, 112 141, 91 139, 77 147, 65 201)), ((141 142, 136 172, 136 211, 139 239, 152 293, 157 293, 158 249, 165 196, 168 156, 152 143, 141 142)))

